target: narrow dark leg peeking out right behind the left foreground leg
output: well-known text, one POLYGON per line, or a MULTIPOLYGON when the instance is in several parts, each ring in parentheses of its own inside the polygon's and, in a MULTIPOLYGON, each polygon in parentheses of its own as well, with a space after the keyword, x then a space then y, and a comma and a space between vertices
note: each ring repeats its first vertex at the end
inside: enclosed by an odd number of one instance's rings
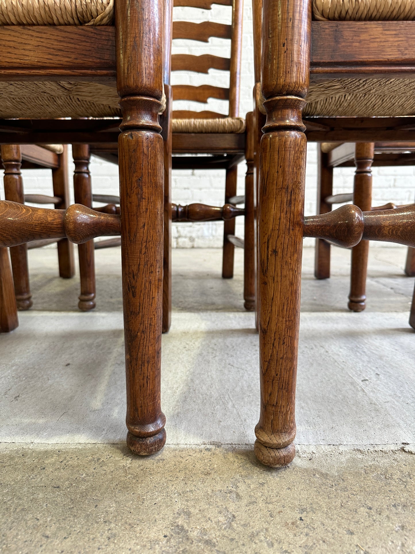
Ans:
POLYGON ((163 243, 163 333, 172 322, 172 88, 164 85, 166 109, 160 120, 164 147, 164 243, 163 243))

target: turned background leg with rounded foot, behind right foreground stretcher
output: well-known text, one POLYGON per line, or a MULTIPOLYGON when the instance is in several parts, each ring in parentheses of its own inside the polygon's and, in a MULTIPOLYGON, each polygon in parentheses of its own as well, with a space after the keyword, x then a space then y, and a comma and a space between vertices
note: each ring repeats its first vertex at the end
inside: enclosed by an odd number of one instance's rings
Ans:
MULTIPOLYGON (((372 205, 372 163, 375 150, 373 142, 356 142, 356 172, 353 187, 353 203, 362 212, 372 205)), ((366 307, 366 274, 369 241, 361 240, 351 251, 349 310, 363 311, 366 307)))

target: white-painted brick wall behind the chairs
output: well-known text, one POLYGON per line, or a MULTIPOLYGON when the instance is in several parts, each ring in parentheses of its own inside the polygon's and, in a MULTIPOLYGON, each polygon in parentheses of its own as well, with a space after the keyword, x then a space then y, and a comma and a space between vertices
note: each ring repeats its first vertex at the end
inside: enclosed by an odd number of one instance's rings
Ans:
MULTIPOLYGON (((212 10, 198 10, 195 8, 175 8, 174 18, 200 22, 212 20, 222 23, 230 22, 231 11, 227 6, 213 6, 212 10)), ((229 41, 211 39, 210 44, 197 43, 191 40, 174 40, 173 53, 212 54, 229 56, 229 41)), ((229 75, 211 70, 209 75, 188 74, 183 71, 172 75, 172 84, 214 84, 229 86, 229 75)), ((245 0, 242 38, 242 66, 241 66, 241 100, 240 115, 252 110, 253 89, 253 41, 252 41, 252 8, 251 0, 245 0)), ((206 109, 204 105, 195 102, 177 101, 174 109, 206 109)), ((227 101, 210 99, 209 107, 214 111, 227 113, 227 101)), ((70 174, 73 165, 69 167, 70 174)), ((246 164, 238 167, 238 194, 243 194, 246 164)), ((352 188, 352 168, 335 170, 334 192, 350 192, 352 188)), ((51 177, 47 170, 26 170, 24 173, 24 187, 30 193, 51 193, 51 177)), ((111 163, 98 158, 91 162, 92 184, 94 192, 103 194, 118 194, 118 168, 111 163)), ((308 147, 307 178, 305 184, 305 214, 315 213, 317 181, 316 145, 308 147)), ((412 202, 415 194, 415 166, 414 167, 382 167, 373 168, 373 205, 385 202, 403 204, 412 202)), ((1 197, 4 198, 1 188, 1 197)), ((189 204, 202 202, 221 206, 225 197, 225 171, 174 171, 172 199, 175 203, 189 204)), ((73 194, 72 194, 73 199, 73 194)), ((221 248, 223 224, 209 223, 181 223, 173 224, 174 248, 221 248)), ((243 220, 237 219, 236 233, 243 236, 243 220)), ((384 245, 384 243, 375 243, 384 245)), ((306 239, 305 246, 314 246, 313 239, 306 239)))

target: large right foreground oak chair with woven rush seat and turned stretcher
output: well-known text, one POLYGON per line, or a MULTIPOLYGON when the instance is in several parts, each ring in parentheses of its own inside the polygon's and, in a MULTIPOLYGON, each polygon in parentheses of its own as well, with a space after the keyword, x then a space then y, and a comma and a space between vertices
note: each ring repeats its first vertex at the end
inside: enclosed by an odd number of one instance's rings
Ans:
POLYGON ((386 3, 372 0, 263 0, 267 119, 258 164, 261 414, 255 452, 266 465, 287 465, 295 454, 303 237, 348 247, 361 239, 413 247, 413 205, 363 213, 349 205, 304 218, 307 140, 415 139, 415 118, 408 115, 414 110, 415 22, 382 20, 412 19, 413 3, 401 4, 400 11, 388 13, 386 3), (361 9, 349 13, 348 6, 361 9), (329 20, 332 13, 376 20, 329 20))

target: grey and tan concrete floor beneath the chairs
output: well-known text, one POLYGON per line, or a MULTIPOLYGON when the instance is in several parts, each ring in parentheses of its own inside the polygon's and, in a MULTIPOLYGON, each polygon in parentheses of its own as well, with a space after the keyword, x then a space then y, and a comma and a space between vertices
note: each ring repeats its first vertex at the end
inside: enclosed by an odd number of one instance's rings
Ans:
POLYGON ((167 445, 125 447, 119 249, 98 250, 97 309, 32 250, 33 309, 0 336, 0 552, 415 552, 415 375, 405 251, 372 248, 367 309, 346 309, 349 253, 313 278, 304 249, 297 456, 252 453, 258 336, 242 257, 175 250, 163 336, 167 445))

